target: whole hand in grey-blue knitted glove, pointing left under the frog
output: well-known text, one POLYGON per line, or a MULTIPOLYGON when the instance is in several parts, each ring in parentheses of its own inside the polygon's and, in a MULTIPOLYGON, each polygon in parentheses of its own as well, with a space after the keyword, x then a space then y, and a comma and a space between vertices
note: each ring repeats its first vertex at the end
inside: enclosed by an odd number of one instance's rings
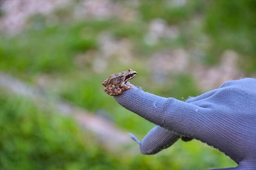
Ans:
POLYGON ((236 168, 225 170, 256 170, 256 79, 225 82, 186 102, 136 87, 114 97, 128 110, 158 125, 141 141, 143 154, 157 153, 180 137, 194 138, 238 163, 236 168))

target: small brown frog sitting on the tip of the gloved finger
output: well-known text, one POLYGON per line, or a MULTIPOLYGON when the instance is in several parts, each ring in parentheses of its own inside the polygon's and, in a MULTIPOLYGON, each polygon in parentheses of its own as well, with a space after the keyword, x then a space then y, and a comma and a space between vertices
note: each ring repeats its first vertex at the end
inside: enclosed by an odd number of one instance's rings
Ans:
POLYGON ((130 68, 127 71, 112 74, 102 83, 102 85, 105 86, 104 91, 109 95, 120 95, 124 93, 124 91, 132 88, 128 80, 136 75, 137 72, 132 71, 130 68))

